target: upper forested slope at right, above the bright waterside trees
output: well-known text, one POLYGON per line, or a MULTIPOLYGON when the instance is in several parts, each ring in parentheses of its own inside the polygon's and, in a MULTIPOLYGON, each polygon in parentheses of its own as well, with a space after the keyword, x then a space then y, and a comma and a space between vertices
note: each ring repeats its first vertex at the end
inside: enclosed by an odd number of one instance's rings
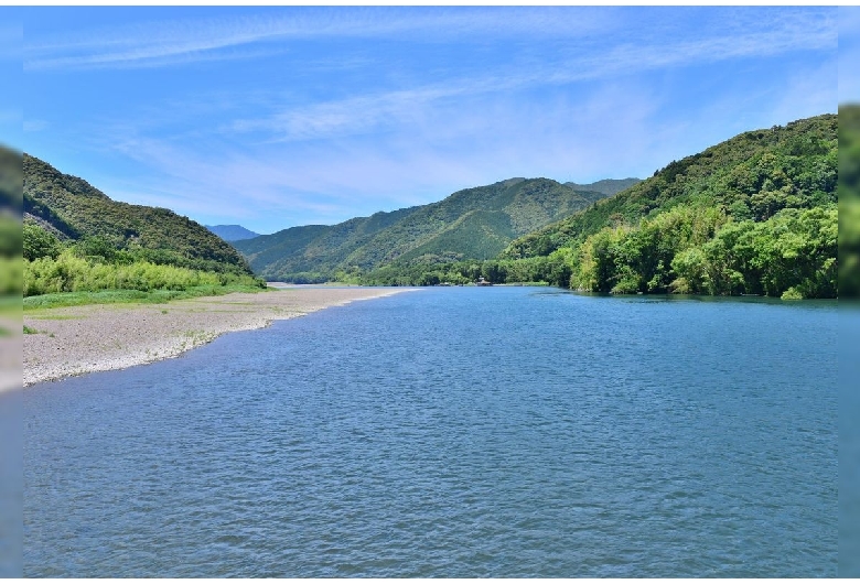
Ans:
POLYGON ((674 161, 582 213, 513 241, 505 258, 547 256, 604 227, 632 225, 676 205, 716 207, 737 220, 765 220, 785 207, 836 201, 837 116, 744 132, 674 161))

